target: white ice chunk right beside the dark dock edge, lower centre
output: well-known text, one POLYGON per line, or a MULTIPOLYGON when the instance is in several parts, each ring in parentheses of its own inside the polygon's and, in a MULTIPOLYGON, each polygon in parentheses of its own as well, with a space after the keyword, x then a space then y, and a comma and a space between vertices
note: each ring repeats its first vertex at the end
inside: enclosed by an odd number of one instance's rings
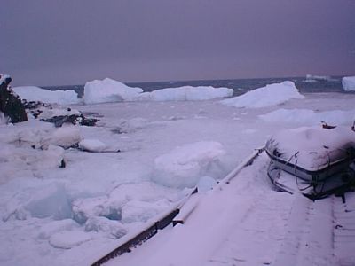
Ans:
POLYGON ((146 222, 169 207, 166 200, 131 200, 122 207, 122 223, 146 222))

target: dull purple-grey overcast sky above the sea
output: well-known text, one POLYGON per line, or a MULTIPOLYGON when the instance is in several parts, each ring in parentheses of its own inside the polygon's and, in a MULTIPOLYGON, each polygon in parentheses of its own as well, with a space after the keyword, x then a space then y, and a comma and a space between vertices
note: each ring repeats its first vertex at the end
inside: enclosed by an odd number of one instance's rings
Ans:
POLYGON ((355 0, 2 0, 13 85, 355 74, 355 0))

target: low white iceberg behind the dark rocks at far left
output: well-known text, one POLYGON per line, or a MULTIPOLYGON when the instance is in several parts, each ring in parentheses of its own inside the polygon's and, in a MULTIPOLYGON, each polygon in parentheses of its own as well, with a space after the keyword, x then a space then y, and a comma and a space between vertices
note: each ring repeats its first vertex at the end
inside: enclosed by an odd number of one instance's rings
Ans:
POLYGON ((74 90, 45 90, 36 86, 14 87, 13 90, 21 99, 27 101, 41 101, 59 105, 74 105, 81 101, 74 90))

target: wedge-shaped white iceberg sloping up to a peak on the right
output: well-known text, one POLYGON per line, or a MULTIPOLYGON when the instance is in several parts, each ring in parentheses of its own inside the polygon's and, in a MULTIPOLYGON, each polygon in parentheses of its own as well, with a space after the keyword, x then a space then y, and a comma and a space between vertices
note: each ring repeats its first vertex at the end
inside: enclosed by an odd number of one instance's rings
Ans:
POLYGON ((260 108, 280 105, 291 98, 304 98, 304 96, 299 93, 294 82, 281 82, 225 99, 221 103, 225 106, 260 108))

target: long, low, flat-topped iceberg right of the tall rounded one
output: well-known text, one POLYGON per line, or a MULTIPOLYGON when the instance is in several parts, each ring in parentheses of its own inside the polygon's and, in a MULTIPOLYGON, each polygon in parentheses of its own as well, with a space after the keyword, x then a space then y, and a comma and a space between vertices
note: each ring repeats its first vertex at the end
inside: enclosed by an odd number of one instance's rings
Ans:
POLYGON ((153 101, 201 101, 214 98, 226 98, 233 96, 233 89, 213 87, 184 86, 179 88, 166 88, 146 92, 139 96, 139 100, 153 101))

